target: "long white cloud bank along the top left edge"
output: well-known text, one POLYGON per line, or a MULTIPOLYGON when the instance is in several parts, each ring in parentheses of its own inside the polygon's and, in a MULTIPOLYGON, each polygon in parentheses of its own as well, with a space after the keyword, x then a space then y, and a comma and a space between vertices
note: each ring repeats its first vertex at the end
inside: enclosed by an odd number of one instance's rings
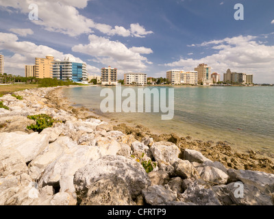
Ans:
MULTIPOLYGON (((132 24, 131 29, 125 27, 112 26, 107 24, 95 23, 92 19, 82 16, 78 9, 86 8, 89 0, 36 0, 38 5, 38 21, 32 21, 36 25, 41 25, 47 31, 60 32, 69 36, 79 36, 81 34, 92 34, 94 29, 101 31, 108 36, 135 36, 145 37, 153 33, 146 31, 145 27, 138 23, 132 24)), ((0 1, 0 9, 23 14, 29 14, 29 1, 12 0, 0 1)))

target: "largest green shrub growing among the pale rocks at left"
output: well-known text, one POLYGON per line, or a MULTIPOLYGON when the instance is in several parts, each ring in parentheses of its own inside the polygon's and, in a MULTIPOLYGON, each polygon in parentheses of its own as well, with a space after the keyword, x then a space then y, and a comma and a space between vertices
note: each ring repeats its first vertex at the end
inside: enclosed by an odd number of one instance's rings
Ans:
POLYGON ((27 129, 38 131, 40 133, 43 129, 52 127, 55 123, 62 123, 60 120, 55 120, 51 116, 48 116, 47 114, 39 114, 34 116, 27 116, 27 118, 35 120, 36 125, 32 124, 27 126, 27 129))

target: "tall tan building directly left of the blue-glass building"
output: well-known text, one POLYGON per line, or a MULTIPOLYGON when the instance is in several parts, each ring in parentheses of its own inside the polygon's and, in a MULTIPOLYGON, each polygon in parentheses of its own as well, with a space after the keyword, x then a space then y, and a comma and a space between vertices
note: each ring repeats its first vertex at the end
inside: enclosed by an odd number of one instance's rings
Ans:
POLYGON ((52 78, 52 67, 54 57, 53 55, 47 55, 46 58, 35 58, 35 77, 37 78, 52 78))

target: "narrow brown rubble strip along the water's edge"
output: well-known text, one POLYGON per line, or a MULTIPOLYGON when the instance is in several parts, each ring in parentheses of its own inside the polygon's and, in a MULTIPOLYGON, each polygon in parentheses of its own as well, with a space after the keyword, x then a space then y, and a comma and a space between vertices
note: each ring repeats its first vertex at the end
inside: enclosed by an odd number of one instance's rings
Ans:
MULTIPOLYGON (((68 87, 68 88, 72 88, 68 87)), ((162 133, 162 131, 155 131, 150 130, 147 127, 142 125, 134 125, 132 123, 121 123, 119 119, 113 120, 111 118, 101 116, 92 112, 92 110, 88 110, 87 108, 81 106, 73 106, 74 103, 69 102, 62 94, 62 88, 59 90, 58 96, 62 96, 62 99, 66 100, 66 104, 79 108, 84 109, 86 112, 90 112, 92 116, 104 120, 114 126, 114 129, 118 131, 122 131, 125 134, 134 133, 134 137, 137 140, 141 140, 141 138, 145 136, 153 136, 153 140, 164 140, 169 141, 169 139, 174 138, 176 140, 171 140, 177 146, 181 147, 182 149, 194 149, 200 151, 208 157, 209 159, 213 159, 216 162, 222 162, 226 168, 235 168, 235 169, 242 169, 242 170, 259 170, 269 173, 274 173, 274 159, 272 157, 266 157, 265 155, 260 155, 256 153, 256 151, 249 150, 249 153, 243 153, 242 151, 237 151, 236 149, 232 149, 229 144, 226 142, 216 142, 214 140, 208 140, 203 142, 199 139, 193 139, 192 136, 179 136, 175 133, 162 133), (141 138, 139 138, 141 136, 141 138), (214 144, 216 142, 216 144, 214 144), (213 143, 213 144, 212 144, 213 143), (225 149, 223 149, 223 147, 225 149), (230 159, 229 159, 230 158, 230 159)))

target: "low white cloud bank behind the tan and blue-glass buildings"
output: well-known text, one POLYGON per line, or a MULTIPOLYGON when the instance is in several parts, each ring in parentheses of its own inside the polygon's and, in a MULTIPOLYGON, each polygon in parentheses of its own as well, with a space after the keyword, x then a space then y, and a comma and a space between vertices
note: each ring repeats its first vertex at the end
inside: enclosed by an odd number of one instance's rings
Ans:
MULTIPOLYGON (((24 75, 26 64, 35 64, 35 57, 45 57, 51 54, 55 59, 64 60, 70 57, 75 62, 83 62, 79 57, 71 54, 64 54, 60 51, 52 49, 44 45, 36 45, 33 42, 18 41, 15 34, 6 34, 0 32, 0 48, 8 50, 14 55, 5 56, 5 72, 14 73, 16 75, 24 75)), ((93 66, 87 65, 90 73, 98 73, 100 70, 93 66)))

